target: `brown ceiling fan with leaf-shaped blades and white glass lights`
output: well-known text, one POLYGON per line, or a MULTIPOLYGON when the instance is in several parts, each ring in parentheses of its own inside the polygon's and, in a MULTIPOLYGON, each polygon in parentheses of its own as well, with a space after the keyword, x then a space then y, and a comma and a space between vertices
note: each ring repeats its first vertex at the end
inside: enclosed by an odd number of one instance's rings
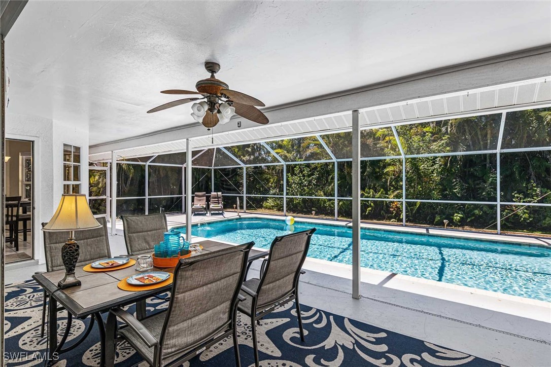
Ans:
POLYGON ((161 111, 166 108, 176 107, 185 103, 204 100, 193 103, 191 117, 202 123, 207 128, 213 128, 218 123, 229 122, 231 116, 238 114, 259 124, 267 124, 268 118, 255 106, 266 106, 261 101, 244 93, 228 89, 228 84, 214 78, 214 74, 220 70, 220 65, 214 62, 206 62, 205 69, 210 73, 210 78, 199 80, 195 84, 197 91, 169 89, 163 90, 164 94, 199 94, 202 97, 183 98, 158 107, 152 108, 147 113, 161 111))

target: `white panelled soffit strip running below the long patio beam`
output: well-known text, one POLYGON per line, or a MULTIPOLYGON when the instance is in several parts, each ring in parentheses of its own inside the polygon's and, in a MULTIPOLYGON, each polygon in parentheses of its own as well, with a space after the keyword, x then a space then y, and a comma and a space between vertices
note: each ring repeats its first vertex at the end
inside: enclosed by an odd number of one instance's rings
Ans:
MULTIPOLYGON (((369 125, 399 125, 481 113, 499 113, 503 109, 527 108, 522 106, 525 103, 530 103, 532 106, 549 107, 549 103, 551 103, 551 82, 548 80, 550 78, 548 76, 547 78, 507 84, 500 87, 487 87, 479 91, 453 93, 366 108, 360 111, 359 122, 362 128, 369 128, 369 125), (491 109, 491 111, 488 109, 491 109)), ((191 146, 194 150, 206 149, 213 145, 230 146, 255 141, 280 140, 289 136, 349 131, 351 128, 352 114, 346 112, 298 122, 257 125, 257 127, 251 129, 239 129, 229 133, 204 136, 192 139, 191 146)), ((117 155, 119 157, 136 157, 184 150, 186 150, 185 140, 173 140, 119 150, 117 155)), ((111 160, 111 152, 90 154, 88 158, 90 161, 111 160)))

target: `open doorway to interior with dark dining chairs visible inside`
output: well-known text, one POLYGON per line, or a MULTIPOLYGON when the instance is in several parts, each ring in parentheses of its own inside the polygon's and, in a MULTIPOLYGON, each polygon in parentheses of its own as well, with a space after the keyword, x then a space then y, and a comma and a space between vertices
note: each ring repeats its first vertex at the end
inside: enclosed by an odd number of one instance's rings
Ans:
POLYGON ((6 139, 6 263, 34 258, 34 142, 6 139))

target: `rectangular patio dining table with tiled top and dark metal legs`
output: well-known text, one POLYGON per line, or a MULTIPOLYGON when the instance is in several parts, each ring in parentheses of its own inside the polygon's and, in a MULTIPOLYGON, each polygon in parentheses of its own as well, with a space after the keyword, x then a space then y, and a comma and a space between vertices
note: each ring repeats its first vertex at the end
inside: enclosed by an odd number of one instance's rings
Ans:
MULTIPOLYGON (((203 240, 198 242, 198 244, 203 247, 202 253, 219 251, 232 246, 210 240, 203 240)), ((198 254, 192 254, 192 256, 196 255, 198 254)), ((249 271, 253 261, 265 258, 267 255, 268 251, 251 250, 249 253, 247 272, 249 271)), ((130 256, 130 258, 136 259, 137 256, 130 256)), ((158 269, 154 267, 152 271, 166 271, 172 273, 174 272, 174 269, 174 267, 169 269, 158 269)), ((50 353, 48 355, 56 355, 54 353, 59 355, 77 347, 80 342, 84 341, 84 339, 88 337, 95 320, 98 324, 100 333, 100 365, 105 366, 105 323, 101 317, 101 313, 105 313, 115 307, 136 303, 136 316, 138 320, 143 319, 143 317, 145 317, 145 300, 149 297, 155 296, 156 294, 170 291, 172 287, 172 283, 170 283, 160 288, 139 292, 123 291, 117 287, 118 282, 137 273, 139 273, 139 271, 134 269, 134 266, 105 272, 86 272, 83 270, 83 266, 79 266, 75 269, 75 275, 80 282, 82 282, 82 285, 67 289, 60 289, 57 286, 57 283, 62 280, 65 275, 65 270, 37 273, 33 275, 33 279, 50 295, 50 301, 48 304, 49 341, 47 346, 50 353), (58 305, 63 306, 63 308, 68 311, 66 330, 64 331, 60 342, 58 342, 57 338, 58 305), (77 319, 84 319, 88 316, 92 316, 88 330, 84 332, 78 341, 75 341, 67 348, 63 348, 63 344, 66 342, 69 335, 72 318, 75 317, 77 319)), ((55 362, 55 360, 50 360, 48 365, 55 362)))

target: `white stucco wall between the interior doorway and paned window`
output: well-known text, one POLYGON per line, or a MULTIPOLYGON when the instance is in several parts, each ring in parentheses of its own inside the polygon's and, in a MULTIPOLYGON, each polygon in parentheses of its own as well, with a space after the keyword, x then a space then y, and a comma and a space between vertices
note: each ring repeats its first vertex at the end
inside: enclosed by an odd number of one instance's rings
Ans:
POLYGON ((35 141, 35 259, 44 264, 44 237, 40 228, 42 222, 52 217, 63 193, 63 144, 80 146, 81 193, 88 194, 88 127, 8 112, 6 138, 35 141))

